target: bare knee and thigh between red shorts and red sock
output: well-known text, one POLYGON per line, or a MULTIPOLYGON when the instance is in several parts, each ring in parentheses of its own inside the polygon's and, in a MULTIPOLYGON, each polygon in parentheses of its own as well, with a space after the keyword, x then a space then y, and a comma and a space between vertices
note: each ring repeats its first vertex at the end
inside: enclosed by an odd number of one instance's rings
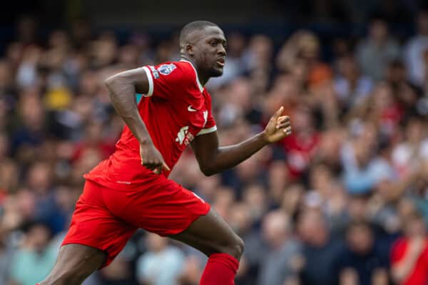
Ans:
POLYGON ((171 235, 170 238, 199 249, 207 256, 221 252, 240 259, 244 247, 242 239, 213 208, 208 214, 196 219, 183 232, 171 235))

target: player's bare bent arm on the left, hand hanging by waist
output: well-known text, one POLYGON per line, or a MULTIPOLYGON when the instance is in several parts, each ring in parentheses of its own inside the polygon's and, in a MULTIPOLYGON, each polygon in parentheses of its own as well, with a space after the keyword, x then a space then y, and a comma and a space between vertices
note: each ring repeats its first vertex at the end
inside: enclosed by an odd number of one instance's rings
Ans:
POLYGON ((148 94, 150 91, 145 68, 117 73, 106 79, 106 86, 111 103, 140 143, 141 164, 158 174, 161 173, 162 168, 169 171, 161 152, 153 145, 151 136, 138 112, 136 93, 148 94))

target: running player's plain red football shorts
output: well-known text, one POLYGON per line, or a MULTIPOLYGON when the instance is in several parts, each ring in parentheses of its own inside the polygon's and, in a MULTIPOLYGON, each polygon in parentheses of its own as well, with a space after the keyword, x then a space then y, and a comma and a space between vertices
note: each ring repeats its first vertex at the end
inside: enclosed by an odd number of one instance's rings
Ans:
POLYGON ((108 254, 107 266, 138 228, 163 237, 187 229, 210 204, 163 176, 141 190, 113 190, 86 180, 62 243, 83 244, 108 254))

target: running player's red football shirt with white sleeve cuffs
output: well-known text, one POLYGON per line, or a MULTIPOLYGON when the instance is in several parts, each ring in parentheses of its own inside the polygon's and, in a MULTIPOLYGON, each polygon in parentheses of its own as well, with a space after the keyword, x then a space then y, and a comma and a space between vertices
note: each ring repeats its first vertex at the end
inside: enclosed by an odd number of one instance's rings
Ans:
MULTIPOLYGON (((217 130, 211 113, 211 97, 188 61, 143 69, 148 76, 149 90, 138 103, 138 110, 153 144, 172 170, 196 135, 217 130)), ((169 172, 163 170, 163 175, 168 177, 169 172)), ((125 126, 113 155, 84 177, 116 190, 129 190, 156 182, 158 175, 141 165, 140 145, 125 126)))

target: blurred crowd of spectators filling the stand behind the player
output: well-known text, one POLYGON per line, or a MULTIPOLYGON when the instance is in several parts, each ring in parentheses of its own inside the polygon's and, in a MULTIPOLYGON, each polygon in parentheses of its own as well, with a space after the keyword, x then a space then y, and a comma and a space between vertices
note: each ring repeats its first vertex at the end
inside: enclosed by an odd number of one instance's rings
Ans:
MULTIPOLYGON (((190 149, 170 178, 245 242, 238 285, 428 284, 428 11, 398 38, 374 17, 360 38, 277 43, 228 31, 225 72, 206 86, 221 145, 263 130, 283 105, 293 133, 221 175, 190 149)), ((104 80, 179 58, 178 37, 119 41, 85 21, 39 41, 17 24, 0 58, 0 284, 34 285, 56 261, 83 173, 114 151, 123 121, 104 80)), ((144 232, 86 285, 195 285, 206 257, 144 232)))

